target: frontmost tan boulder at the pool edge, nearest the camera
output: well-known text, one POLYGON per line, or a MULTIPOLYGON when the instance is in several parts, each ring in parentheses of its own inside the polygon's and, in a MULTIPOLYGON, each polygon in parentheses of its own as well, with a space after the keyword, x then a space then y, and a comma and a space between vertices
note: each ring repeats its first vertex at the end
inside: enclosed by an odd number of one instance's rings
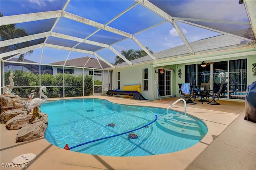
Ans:
POLYGON ((47 122, 39 121, 36 123, 26 123, 16 136, 16 142, 30 141, 32 139, 37 139, 44 136, 44 131, 46 130, 47 122))

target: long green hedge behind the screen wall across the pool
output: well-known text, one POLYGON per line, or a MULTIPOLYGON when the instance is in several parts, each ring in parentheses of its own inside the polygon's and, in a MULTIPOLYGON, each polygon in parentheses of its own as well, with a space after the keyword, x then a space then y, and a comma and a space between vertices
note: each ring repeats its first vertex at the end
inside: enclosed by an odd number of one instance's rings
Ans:
MULTIPOLYGON (((10 71, 4 72, 4 80, 5 85, 9 84, 9 74, 10 71)), ((13 88, 12 92, 19 95, 20 97, 27 98, 31 93, 31 90, 35 90, 37 94, 35 94, 34 98, 39 97, 39 74, 33 74, 33 72, 23 70, 15 70, 13 72, 15 76, 13 78, 14 86, 20 86, 20 88, 13 88), (22 87, 28 86, 28 87, 22 87), (34 86, 34 87, 31 87, 34 86)), ((65 96, 83 96, 82 85, 83 79, 82 75, 74 75, 74 74, 64 74, 65 76, 65 96), (69 86, 69 87, 66 87, 69 86), (71 87, 70 87, 71 86, 71 87), (79 87, 80 86, 80 87, 79 87)), ((102 85, 100 80, 94 81, 95 85, 102 85)), ((56 75, 51 74, 41 74, 41 86, 51 86, 47 87, 46 96, 48 98, 57 98, 63 97, 63 74, 59 73, 56 75), (60 87, 58 87, 60 86, 60 87)), ((93 77, 92 75, 86 74, 84 76, 84 96, 89 96, 93 94, 93 77)), ((96 91, 99 91, 101 87, 96 86, 96 91)))

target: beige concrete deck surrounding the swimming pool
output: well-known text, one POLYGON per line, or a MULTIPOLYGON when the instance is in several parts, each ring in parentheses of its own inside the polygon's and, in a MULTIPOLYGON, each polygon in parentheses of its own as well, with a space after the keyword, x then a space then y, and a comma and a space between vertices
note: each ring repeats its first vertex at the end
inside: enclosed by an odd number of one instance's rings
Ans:
MULTIPOLYGON (((91 96, 113 103, 167 108, 178 98, 161 101, 134 100, 115 96, 91 96)), ((52 99, 48 99, 52 100, 52 99)), ((56 100, 56 99, 54 99, 56 100)), ((181 170, 181 169, 256 169, 256 123, 245 121, 244 102, 218 101, 212 106, 196 101, 187 105, 187 114, 204 121, 206 136, 196 145, 178 152, 136 157, 98 156, 64 150, 44 137, 15 143, 19 130, 6 130, 1 124, 1 170, 181 170), (27 167, 17 167, 12 160, 21 154, 34 153, 36 158, 27 167), (6 167, 6 166, 11 167, 6 167)), ((171 109, 184 111, 183 102, 171 109)), ((154 145, 154 144, 152 144, 154 145)))

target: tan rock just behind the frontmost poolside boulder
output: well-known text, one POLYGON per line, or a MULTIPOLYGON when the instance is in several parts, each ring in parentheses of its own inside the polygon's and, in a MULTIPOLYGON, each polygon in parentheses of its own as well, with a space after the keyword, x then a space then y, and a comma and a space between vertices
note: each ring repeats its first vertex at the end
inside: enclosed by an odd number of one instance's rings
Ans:
POLYGON ((16 130, 22 128, 23 125, 28 123, 28 121, 32 118, 32 115, 27 115, 26 113, 19 114, 9 121, 6 122, 6 129, 8 130, 16 130))

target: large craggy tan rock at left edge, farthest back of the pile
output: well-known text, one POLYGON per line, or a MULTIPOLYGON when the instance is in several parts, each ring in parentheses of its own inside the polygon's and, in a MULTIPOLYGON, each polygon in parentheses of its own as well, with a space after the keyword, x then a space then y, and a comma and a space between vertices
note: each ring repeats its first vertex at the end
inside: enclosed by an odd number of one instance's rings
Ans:
POLYGON ((18 95, 1 95, 1 113, 6 110, 22 108, 25 102, 28 100, 27 98, 21 98, 18 95))

